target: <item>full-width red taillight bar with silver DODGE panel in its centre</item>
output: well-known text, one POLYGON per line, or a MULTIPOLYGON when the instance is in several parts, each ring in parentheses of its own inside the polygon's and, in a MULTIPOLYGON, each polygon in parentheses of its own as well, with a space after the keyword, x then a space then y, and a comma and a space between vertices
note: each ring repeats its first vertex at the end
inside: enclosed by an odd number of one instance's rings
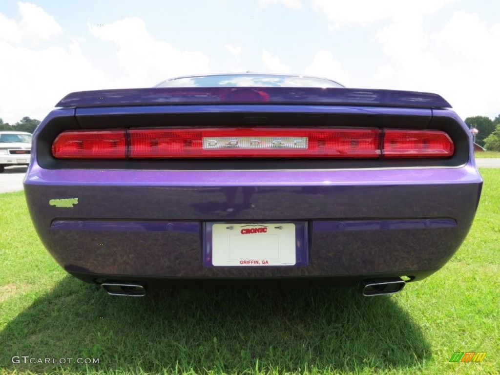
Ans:
POLYGON ((174 128, 68 130, 56 158, 447 157, 453 142, 439 130, 345 128, 174 128))

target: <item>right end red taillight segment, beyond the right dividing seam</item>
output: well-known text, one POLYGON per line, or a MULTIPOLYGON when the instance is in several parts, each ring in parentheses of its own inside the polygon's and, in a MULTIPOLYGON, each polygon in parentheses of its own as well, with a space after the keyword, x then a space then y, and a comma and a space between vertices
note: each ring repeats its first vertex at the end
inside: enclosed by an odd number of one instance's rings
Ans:
POLYGON ((453 148, 453 141, 444 131, 383 131, 384 157, 446 157, 453 154, 453 148))

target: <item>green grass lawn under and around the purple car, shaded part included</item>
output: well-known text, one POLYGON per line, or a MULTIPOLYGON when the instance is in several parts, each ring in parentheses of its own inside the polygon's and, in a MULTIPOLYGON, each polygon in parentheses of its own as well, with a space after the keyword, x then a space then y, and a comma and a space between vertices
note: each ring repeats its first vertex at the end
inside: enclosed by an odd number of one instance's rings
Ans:
POLYGON ((52 260, 22 192, 0 194, 0 373, 500 373, 500 169, 481 173, 477 216, 453 258, 370 298, 354 288, 111 297, 52 260), (450 363, 454 351, 487 354, 450 363))

